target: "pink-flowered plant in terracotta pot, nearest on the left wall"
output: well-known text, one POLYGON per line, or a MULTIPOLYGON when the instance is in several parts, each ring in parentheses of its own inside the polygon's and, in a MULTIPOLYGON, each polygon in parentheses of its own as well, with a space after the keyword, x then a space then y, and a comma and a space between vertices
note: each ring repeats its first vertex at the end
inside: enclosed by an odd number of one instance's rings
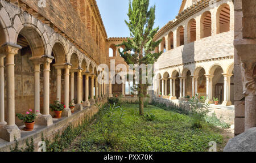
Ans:
MULTIPOLYGON (((26 111, 26 114, 16 114, 16 117, 18 117, 20 120, 22 120, 22 122, 25 123, 24 130, 26 131, 32 131, 34 129, 34 125, 35 125, 35 118, 36 118, 36 114, 31 113, 31 109, 29 111, 26 111), (30 111, 30 112, 29 112, 30 111)), ((39 112, 38 110, 36 112, 39 112)))

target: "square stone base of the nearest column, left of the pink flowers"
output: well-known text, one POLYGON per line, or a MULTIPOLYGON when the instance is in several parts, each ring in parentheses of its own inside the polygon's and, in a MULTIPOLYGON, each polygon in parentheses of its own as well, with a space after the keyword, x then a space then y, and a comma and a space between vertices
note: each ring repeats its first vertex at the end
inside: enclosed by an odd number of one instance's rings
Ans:
POLYGON ((14 141, 14 137, 18 140, 20 139, 20 130, 18 126, 4 126, 0 130, 0 138, 6 141, 14 141))

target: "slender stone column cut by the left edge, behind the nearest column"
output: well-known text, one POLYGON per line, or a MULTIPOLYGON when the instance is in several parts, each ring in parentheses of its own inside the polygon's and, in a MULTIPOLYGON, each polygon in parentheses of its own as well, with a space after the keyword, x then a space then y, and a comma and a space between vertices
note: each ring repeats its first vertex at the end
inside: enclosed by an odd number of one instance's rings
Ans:
POLYGON ((0 54, 0 129, 5 126, 5 64, 3 59, 5 56, 0 54))

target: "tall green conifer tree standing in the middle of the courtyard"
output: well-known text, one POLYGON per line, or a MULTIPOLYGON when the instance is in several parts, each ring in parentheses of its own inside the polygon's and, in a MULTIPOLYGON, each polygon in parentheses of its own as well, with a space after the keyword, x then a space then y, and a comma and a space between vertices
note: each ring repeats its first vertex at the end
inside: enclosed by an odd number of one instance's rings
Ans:
MULTIPOLYGON (((154 53, 154 50, 162 40, 154 41, 153 38, 158 32, 158 28, 154 28, 155 23, 155 5, 149 7, 149 0, 129 0, 128 17, 129 22, 125 20, 129 30, 130 37, 127 42, 117 46, 125 46, 123 52, 119 50, 125 62, 134 65, 154 64, 159 58, 160 53, 154 53), (130 52, 130 53, 127 53, 130 52)), ((135 84, 135 83, 134 83, 135 84)), ((139 115, 143 115, 144 97, 147 96, 147 87, 150 84, 142 84, 142 70, 139 70, 139 83, 133 87, 134 91, 138 92, 139 96, 139 115)))

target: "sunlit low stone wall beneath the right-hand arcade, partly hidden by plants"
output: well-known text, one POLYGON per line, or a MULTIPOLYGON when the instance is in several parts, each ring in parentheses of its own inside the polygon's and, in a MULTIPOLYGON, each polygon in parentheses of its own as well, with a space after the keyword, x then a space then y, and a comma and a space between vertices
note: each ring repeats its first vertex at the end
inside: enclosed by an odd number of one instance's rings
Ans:
MULTIPOLYGON (((190 110, 190 104, 187 101, 180 100, 169 100, 167 98, 154 97, 154 101, 166 104, 166 106, 174 106, 182 108, 185 110, 190 110)), ((222 106, 222 105, 210 105, 209 106, 209 115, 213 113, 216 114, 216 117, 222 121, 234 125, 234 106, 222 106)))

